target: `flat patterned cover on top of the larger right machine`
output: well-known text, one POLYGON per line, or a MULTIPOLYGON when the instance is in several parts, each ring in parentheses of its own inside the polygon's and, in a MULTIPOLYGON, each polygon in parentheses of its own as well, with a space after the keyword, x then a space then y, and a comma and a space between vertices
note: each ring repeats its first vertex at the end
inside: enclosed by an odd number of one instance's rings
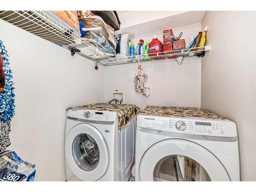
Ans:
POLYGON ((184 118, 204 118, 220 119, 225 118, 214 113, 199 108, 184 108, 176 106, 146 106, 138 115, 164 116, 164 117, 184 117, 184 118))

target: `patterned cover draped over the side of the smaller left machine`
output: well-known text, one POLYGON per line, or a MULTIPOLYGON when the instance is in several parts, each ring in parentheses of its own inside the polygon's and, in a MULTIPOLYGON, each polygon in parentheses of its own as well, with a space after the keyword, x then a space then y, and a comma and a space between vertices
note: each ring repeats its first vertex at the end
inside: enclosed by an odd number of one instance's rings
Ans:
POLYGON ((95 111, 112 111, 116 112, 118 116, 118 130, 121 131, 122 127, 128 123, 133 116, 139 113, 140 108, 135 104, 109 104, 109 103, 97 103, 83 106, 73 106, 69 109, 76 110, 95 110, 95 111))

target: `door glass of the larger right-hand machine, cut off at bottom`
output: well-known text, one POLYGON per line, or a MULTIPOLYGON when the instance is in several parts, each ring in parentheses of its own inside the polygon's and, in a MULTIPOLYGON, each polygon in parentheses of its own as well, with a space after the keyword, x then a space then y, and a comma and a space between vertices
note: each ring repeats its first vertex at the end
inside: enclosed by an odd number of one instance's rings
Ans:
POLYGON ((182 155, 169 155, 156 164, 154 181, 211 181, 206 170, 195 160, 182 155))

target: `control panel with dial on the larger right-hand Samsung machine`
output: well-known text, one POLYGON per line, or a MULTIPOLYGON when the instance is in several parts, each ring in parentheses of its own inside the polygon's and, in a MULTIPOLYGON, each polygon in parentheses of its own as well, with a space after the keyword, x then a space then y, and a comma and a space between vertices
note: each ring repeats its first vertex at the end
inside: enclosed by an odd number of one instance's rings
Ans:
POLYGON ((229 120, 168 118, 138 115, 137 126, 166 132, 237 137, 236 124, 229 120))

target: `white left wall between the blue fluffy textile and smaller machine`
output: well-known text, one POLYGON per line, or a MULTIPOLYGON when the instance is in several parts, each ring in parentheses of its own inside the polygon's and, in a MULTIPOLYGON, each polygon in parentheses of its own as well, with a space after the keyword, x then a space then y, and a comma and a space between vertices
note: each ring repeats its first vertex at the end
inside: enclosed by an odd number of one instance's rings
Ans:
POLYGON ((65 181, 66 109, 103 100, 103 70, 94 63, 0 21, 15 86, 11 146, 36 164, 37 181, 65 181))

